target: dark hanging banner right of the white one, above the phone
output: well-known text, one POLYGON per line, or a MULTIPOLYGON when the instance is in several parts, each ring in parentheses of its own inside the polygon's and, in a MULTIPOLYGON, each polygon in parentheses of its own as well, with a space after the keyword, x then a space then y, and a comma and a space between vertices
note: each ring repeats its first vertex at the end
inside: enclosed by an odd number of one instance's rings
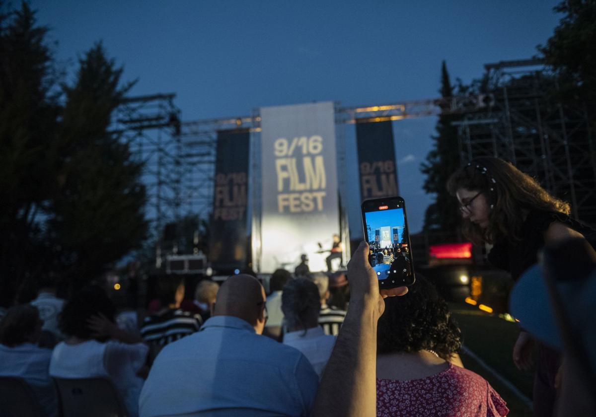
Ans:
POLYGON ((399 195, 392 123, 367 120, 356 120, 361 198, 399 195))

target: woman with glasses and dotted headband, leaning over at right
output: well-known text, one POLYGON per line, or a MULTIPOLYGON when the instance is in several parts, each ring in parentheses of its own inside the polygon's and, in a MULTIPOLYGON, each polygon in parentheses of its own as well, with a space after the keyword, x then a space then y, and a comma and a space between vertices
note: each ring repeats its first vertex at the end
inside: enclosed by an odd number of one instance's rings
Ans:
MULTIPOLYGON (((489 262, 511 273, 514 280, 537 262, 545 244, 594 233, 569 216, 569 203, 499 158, 472 160, 451 175, 447 188, 460 203, 464 235, 473 244, 492 245, 489 262)), ((522 329, 513 348, 518 369, 532 367, 533 348, 532 338, 522 329)), ((536 416, 552 415, 559 366, 560 354, 539 344, 533 395, 536 416)))

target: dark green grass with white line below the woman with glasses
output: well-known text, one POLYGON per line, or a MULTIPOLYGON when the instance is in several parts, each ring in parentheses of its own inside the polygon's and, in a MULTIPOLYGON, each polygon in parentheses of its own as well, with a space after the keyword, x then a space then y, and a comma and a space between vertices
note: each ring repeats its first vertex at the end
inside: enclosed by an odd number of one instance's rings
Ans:
MULTIPOLYGON (((516 323, 507 322, 467 304, 450 304, 460 326, 465 346, 487 365, 532 399, 533 372, 519 371, 511 359, 513 345, 519 334, 516 323)), ((532 412, 509 388, 479 365, 473 358, 462 354, 464 366, 485 378, 501 395, 510 408, 510 416, 532 416, 532 412)))

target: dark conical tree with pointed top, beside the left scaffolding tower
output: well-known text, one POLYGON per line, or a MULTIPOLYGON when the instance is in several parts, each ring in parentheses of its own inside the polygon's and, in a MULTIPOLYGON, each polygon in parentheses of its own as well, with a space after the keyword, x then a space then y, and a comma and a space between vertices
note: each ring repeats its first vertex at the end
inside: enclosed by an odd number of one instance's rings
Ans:
POLYGON ((60 126, 61 186, 51 204, 49 238, 55 259, 80 284, 139 247, 147 231, 142 164, 108 131, 111 114, 133 83, 97 43, 79 59, 65 86, 60 126))

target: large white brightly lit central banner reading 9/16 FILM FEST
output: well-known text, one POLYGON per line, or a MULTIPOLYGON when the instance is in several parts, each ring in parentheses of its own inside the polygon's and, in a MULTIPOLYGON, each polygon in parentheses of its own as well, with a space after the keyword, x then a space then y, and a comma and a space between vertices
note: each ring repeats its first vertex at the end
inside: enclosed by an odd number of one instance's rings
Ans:
POLYGON ((333 102, 264 107, 260 271, 325 270, 339 234, 333 102))

